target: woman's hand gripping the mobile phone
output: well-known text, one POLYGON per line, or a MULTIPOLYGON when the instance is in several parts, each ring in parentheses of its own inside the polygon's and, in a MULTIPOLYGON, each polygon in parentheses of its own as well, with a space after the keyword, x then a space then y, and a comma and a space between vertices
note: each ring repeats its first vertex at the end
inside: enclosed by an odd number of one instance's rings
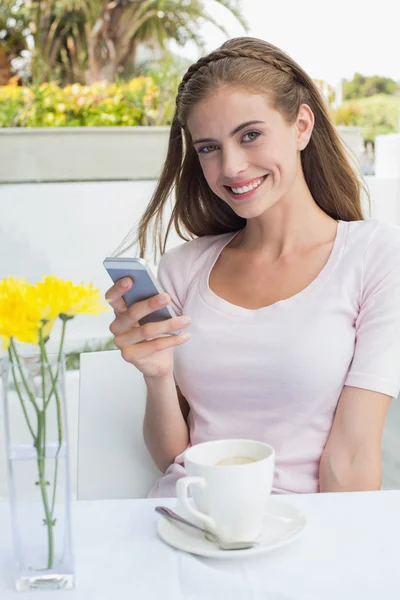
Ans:
POLYGON ((159 294, 128 308, 122 296, 132 285, 132 280, 125 277, 106 292, 106 299, 115 313, 115 319, 110 325, 114 343, 121 350, 124 360, 135 365, 145 377, 172 375, 174 348, 185 343, 190 337, 188 333, 172 335, 172 332, 187 327, 190 318, 175 317, 158 323, 139 325, 140 319, 167 306, 170 297, 167 294, 159 294))

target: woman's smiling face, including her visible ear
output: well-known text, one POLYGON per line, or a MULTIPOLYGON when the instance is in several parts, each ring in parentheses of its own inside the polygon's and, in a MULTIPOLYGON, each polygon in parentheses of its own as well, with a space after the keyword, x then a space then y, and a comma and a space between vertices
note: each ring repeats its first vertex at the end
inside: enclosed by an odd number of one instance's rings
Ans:
POLYGON ((208 185, 248 219, 291 197, 313 123, 307 105, 288 125, 265 96, 230 87, 196 104, 187 126, 208 185))

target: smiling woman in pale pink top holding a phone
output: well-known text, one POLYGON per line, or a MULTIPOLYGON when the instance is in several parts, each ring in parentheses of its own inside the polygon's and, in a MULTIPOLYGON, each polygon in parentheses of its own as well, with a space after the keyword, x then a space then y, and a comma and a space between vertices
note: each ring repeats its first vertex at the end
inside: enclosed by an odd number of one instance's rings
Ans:
MULTIPOLYGON (((239 38, 179 86, 168 155, 139 227, 141 254, 174 189, 166 294, 110 329, 148 388, 144 438, 175 494, 189 444, 252 438, 276 450, 276 493, 378 490, 400 381, 400 229, 363 221, 360 184, 310 77, 239 38), (187 239, 187 238, 186 238, 187 239), (138 326, 171 302, 178 317, 138 326), (188 333, 168 335, 188 327, 188 333)), ((167 230, 167 233, 168 233, 167 230)))

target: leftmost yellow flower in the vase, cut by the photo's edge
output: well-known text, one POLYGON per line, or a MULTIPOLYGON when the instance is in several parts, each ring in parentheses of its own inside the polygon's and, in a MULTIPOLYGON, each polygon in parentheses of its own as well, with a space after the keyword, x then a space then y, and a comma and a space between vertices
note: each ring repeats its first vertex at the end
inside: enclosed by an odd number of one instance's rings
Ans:
POLYGON ((8 277, 0 281, 0 336, 3 349, 10 339, 37 344, 42 326, 38 307, 30 301, 33 286, 25 279, 8 277))

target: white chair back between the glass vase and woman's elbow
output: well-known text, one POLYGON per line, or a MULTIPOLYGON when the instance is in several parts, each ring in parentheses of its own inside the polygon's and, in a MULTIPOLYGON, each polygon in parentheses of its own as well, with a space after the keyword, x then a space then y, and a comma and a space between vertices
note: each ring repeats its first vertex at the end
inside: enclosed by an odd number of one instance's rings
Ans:
POLYGON ((143 376, 119 351, 80 360, 77 497, 145 498, 161 473, 143 441, 143 376))

